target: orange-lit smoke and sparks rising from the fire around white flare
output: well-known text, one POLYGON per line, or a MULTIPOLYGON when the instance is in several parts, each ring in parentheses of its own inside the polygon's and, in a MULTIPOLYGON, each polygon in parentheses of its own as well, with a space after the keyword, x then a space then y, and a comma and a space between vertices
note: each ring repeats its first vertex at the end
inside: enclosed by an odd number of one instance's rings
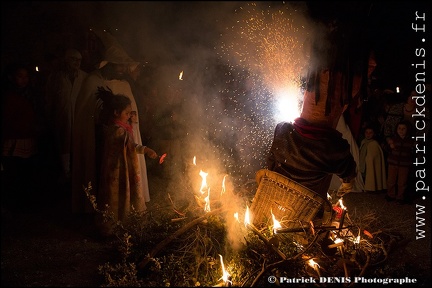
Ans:
MULTIPOLYGON (((300 115, 302 81, 312 60, 316 24, 304 2, 269 3, 97 4, 97 22, 107 25, 100 28, 110 30, 132 58, 156 71, 151 84, 158 87, 158 104, 151 109, 177 109, 183 135, 171 141, 177 149, 163 151, 169 155, 164 165, 171 170, 168 192, 178 196, 179 183, 187 182, 185 193, 220 201, 235 249, 246 234, 246 202, 236 187, 265 167, 277 122, 300 115), (172 155, 176 153, 181 156, 172 155), (200 171, 208 175, 203 193, 200 171), (222 195, 224 177, 228 187, 222 195)), ((159 128, 150 147, 165 149, 157 140, 164 119, 156 121, 159 128)))

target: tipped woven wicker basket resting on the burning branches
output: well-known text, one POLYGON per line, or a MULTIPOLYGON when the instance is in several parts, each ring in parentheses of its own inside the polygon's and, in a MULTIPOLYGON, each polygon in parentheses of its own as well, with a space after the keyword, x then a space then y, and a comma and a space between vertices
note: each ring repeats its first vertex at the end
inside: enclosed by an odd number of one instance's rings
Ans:
POLYGON ((315 221, 322 208, 319 225, 331 222, 331 204, 318 193, 267 169, 257 172, 256 181, 258 189, 250 208, 256 227, 273 226, 272 213, 282 228, 301 227, 315 221))

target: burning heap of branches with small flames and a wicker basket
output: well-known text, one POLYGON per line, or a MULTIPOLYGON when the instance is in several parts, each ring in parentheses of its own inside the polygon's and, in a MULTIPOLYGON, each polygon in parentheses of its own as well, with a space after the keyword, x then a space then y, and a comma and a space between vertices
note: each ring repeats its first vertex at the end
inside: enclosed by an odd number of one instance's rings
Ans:
MULTIPOLYGON (((224 175, 210 193, 211 175, 197 169, 196 191, 179 185, 189 196, 166 194, 144 214, 132 211, 116 227, 118 257, 99 267, 104 286, 262 287, 292 279, 319 286, 377 277, 398 236, 379 228, 374 215, 350 215, 343 194, 321 199, 275 174, 260 170, 239 187, 224 175), (288 196, 272 198, 282 192, 288 196)), ((91 186, 85 191, 95 203, 91 186)))

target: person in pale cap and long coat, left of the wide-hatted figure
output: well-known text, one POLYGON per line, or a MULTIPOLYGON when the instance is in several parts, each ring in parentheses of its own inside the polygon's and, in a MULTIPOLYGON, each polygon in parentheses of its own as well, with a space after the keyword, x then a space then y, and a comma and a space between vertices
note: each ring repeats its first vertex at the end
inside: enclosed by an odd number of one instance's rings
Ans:
POLYGON ((46 83, 46 110, 55 138, 55 153, 62 170, 62 182, 70 181, 75 102, 87 77, 87 72, 81 70, 81 60, 78 50, 68 49, 62 65, 49 75, 46 83))

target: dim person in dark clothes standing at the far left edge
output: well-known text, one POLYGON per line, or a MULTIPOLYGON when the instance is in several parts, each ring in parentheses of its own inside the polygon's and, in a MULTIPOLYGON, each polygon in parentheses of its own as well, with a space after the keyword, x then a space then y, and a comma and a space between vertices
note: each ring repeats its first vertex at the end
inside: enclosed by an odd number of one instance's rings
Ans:
POLYGON ((22 205, 31 202, 29 197, 37 199, 33 178, 40 132, 34 107, 37 95, 31 86, 28 67, 19 63, 7 67, 3 88, 1 160, 4 169, 3 188, 6 189, 2 189, 2 195, 11 193, 12 199, 19 200, 19 205, 22 205))

